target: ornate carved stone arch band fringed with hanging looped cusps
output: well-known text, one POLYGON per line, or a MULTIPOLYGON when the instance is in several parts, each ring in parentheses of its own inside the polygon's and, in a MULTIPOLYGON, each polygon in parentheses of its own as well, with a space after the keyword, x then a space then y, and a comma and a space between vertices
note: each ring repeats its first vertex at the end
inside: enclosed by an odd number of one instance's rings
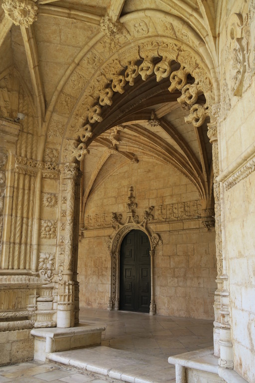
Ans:
POLYGON ((215 103, 213 79, 201 56, 173 38, 143 38, 136 47, 129 44, 118 50, 95 71, 70 115, 60 160, 81 161, 94 138, 108 129, 101 122, 115 94, 123 94, 126 84, 132 86, 137 76, 145 81, 152 74, 157 82, 169 77, 169 92, 181 91, 177 101, 190 111, 187 123, 199 127, 211 117, 215 103), (198 101, 201 95, 205 97, 203 103, 198 101))

